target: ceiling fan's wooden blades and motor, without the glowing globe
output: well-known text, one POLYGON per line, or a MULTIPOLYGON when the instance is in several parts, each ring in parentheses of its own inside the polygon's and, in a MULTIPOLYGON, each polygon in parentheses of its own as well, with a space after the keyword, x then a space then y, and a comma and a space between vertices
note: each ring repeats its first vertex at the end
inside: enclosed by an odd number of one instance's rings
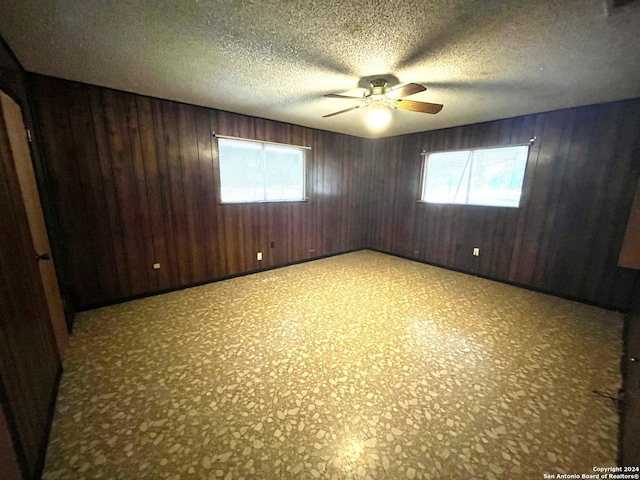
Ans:
POLYGON ((411 112, 432 113, 436 114, 442 110, 442 105, 439 103, 427 103, 417 102, 415 100, 403 100, 404 97, 414 95, 416 93, 424 92, 427 88, 418 83, 407 83, 399 87, 391 88, 387 86, 387 81, 384 78, 376 78, 372 80, 371 88, 367 88, 362 92, 362 97, 356 97, 352 95, 338 95, 330 93, 325 95, 329 98, 344 98, 347 100, 359 100, 360 105, 350 107, 338 112, 329 113, 323 115, 322 118, 333 117, 334 115, 340 115, 341 113, 357 110, 358 108, 365 107, 380 107, 380 108, 395 108, 398 110, 408 110, 411 112))

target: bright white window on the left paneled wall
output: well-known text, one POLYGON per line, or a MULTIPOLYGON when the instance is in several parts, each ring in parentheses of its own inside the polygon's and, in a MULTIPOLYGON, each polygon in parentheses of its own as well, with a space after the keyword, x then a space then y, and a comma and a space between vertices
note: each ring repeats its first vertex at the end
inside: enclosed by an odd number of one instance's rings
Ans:
POLYGON ((218 137, 223 203, 305 200, 307 148, 218 137))

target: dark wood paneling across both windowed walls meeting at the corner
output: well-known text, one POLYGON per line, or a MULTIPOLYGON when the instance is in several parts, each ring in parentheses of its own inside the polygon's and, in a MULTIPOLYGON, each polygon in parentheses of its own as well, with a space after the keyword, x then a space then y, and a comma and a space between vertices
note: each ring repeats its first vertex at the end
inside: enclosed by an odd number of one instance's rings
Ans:
POLYGON ((629 307, 638 274, 616 262, 640 175, 640 100, 363 140, 33 80, 80 308, 366 247, 629 307), (211 131, 310 146, 309 201, 221 205, 211 131), (520 208, 417 203, 422 150, 534 136, 520 208))

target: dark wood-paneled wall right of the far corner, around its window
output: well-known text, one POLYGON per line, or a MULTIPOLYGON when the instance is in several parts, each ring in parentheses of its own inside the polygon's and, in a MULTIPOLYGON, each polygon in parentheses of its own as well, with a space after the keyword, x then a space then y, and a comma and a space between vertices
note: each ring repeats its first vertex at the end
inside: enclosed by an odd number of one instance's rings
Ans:
POLYGON ((640 100, 374 141, 368 245, 627 309, 638 274, 617 259, 640 175, 640 100), (422 150, 526 143, 520 208, 417 203, 422 150), (480 256, 472 256, 474 247, 480 256))

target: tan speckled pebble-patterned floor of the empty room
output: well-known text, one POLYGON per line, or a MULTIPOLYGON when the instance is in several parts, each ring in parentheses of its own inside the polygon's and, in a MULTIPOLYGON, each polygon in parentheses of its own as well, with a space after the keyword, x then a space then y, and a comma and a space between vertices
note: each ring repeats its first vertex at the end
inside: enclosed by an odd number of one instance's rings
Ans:
POLYGON ((622 317, 361 251, 86 312, 45 480, 542 479, 616 461, 622 317))

